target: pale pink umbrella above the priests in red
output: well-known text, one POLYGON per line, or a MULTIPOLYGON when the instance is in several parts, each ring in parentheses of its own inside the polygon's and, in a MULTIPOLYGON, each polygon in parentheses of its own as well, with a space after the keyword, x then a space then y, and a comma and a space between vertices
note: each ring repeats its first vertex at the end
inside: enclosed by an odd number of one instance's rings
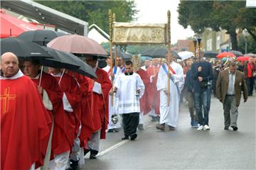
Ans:
POLYGON ((47 46, 70 53, 107 56, 107 52, 101 45, 82 35, 63 35, 51 40, 47 46))

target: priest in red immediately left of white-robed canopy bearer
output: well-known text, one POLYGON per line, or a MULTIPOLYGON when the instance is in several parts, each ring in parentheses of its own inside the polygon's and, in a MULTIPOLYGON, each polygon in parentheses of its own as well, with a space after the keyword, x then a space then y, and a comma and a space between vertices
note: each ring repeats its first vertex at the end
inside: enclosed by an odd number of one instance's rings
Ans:
POLYGON ((151 116, 152 121, 159 120, 159 107, 160 107, 160 92, 156 89, 157 75, 159 72, 159 59, 154 58, 152 60, 152 65, 146 69, 147 74, 149 75, 150 84, 151 84, 151 93, 149 93, 149 100, 151 104, 151 111, 149 116, 151 116))

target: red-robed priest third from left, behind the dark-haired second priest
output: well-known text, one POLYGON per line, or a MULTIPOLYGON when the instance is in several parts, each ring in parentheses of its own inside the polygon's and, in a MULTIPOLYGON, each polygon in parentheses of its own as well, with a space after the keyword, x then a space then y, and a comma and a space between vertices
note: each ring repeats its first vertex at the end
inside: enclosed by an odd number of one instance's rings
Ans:
POLYGON ((70 167, 78 169, 80 158, 80 89, 77 81, 61 69, 48 68, 49 73, 57 79, 60 89, 63 91, 64 111, 68 115, 67 131, 68 140, 71 145, 74 144, 70 152, 70 167))

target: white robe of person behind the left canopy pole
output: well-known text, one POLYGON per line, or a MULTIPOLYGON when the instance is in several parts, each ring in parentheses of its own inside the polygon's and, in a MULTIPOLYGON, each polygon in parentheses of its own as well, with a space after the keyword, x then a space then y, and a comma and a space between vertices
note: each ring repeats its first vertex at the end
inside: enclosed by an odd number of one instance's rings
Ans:
MULTIPOLYGON (((107 72, 109 74, 109 78, 111 81, 111 75, 110 75, 110 66, 107 65, 106 67, 102 68, 105 72, 107 72)), ((113 67, 113 73, 114 73, 114 67, 113 67)), ((119 77, 119 75, 122 74, 121 69, 119 67, 117 67, 117 71, 114 73, 114 80, 113 80, 113 84, 116 81, 117 77, 119 77)), ((107 125, 107 129, 114 129, 114 128, 121 128, 121 123, 120 123, 120 118, 119 121, 114 124, 111 121, 112 115, 117 114, 117 107, 118 107, 118 98, 113 96, 113 105, 111 104, 111 95, 109 95, 109 124, 107 125)))

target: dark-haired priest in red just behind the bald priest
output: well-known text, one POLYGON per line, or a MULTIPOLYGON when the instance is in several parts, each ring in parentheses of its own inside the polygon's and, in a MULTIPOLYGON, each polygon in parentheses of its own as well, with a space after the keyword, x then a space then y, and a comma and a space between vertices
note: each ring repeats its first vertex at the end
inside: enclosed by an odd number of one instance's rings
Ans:
POLYGON ((23 72, 31 78, 38 86, 43 96, 43 104, 49 115, 54 118, 53 139, 51 142, 50 168, 64 168, 68 164, 70 144, 67 127, 70 126, 69 115, 63 110, 63 91, 61 91, 58 81, 40 70, 38 60, 26 60, 23 62, 23 72), (41 79, 41 80, 40 80, 41 79))

